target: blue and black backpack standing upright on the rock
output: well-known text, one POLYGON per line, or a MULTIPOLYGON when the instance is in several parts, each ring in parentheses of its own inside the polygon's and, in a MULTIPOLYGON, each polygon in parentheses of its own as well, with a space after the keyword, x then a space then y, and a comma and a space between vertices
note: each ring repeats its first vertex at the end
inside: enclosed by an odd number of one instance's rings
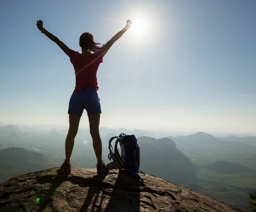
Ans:
MULTIPOLYGON (((108 149, 110 153, 108 154, 108 159, 111 161, 117 161, 122 169, 125 169, 126 172, 143 181, 143 178, 139 175, 140 168, 140 147, 137 144, 137 139, 134 135, 127 133, 120 133, 119 136, 112 137, 109 140, 108 149), (115 147, 111 145, 113 139, 116 139, 115 147), (117 149, 117 144, 120 144, 121 147, 121 156, 117 149)), ((145 173, 143 173, 145 175, 145 173)))

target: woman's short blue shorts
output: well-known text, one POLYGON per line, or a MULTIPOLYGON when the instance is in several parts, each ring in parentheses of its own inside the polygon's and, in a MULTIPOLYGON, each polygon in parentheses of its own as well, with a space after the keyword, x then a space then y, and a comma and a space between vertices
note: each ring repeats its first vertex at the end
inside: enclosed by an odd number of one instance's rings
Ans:
POLYGON ((84 109, 87 115, 102 113, 98 93, 93 87, 86 86, 81 93, 73 93, 70 97, 68 114, 82 116, 84 109))

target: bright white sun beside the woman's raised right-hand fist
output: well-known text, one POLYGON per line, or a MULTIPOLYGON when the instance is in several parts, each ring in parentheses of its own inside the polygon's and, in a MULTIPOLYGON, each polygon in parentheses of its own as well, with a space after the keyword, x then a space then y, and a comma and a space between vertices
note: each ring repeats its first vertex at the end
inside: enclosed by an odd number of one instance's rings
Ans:
POLYGON ((137 37, 137 38, 142 38, 146 36, 150 29, 150 24, 145 18, 142 17, 137 17, 132 20, 133 25, 131 27, 131 33, 137 37))

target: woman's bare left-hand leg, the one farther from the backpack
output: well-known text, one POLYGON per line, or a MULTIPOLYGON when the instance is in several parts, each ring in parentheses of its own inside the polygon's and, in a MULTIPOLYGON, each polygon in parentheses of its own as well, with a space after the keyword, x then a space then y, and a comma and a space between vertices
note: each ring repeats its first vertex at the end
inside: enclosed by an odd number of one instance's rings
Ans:
POLYGON ((79 122, 81 116, 75 114, 69 114, 69 130, 67 133, 66 143, 65 143, 65 151, 66 151, 66 162, 70 162, 70 157, 74 147, 74 141, 76 134, 78 132, 79 122))

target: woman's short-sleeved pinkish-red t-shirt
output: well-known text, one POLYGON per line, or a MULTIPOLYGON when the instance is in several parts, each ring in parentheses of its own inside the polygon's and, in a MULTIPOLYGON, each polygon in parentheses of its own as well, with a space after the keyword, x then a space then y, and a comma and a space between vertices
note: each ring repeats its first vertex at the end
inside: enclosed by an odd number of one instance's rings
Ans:
POLYGON ((96 75, 99 64, 103 62, 101 51, 84 56, 78 51, 70 49, 70 62, 73 64, 76 73, 76 87, 73 93, 81 92, 84 86, 99 89, 96 75))

